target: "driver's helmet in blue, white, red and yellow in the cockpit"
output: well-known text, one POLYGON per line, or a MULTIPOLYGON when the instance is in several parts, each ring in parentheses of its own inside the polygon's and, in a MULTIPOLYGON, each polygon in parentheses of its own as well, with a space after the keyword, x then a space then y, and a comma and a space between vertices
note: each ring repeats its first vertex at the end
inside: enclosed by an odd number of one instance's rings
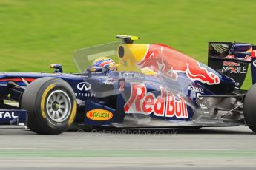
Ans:
POLYGON ((93 66, 95 67, 105 67, 111 71, 116 71, 116 63, 111 58, 100 57, 93 61, 93 66))

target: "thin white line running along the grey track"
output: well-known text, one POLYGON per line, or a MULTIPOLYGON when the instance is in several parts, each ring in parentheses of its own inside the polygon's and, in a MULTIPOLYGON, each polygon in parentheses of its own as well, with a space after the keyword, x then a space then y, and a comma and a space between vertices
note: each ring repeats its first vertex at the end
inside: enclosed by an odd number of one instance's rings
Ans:
POLYGON ((252 150, 256 151, 256 148, 179 148, 179 149, 151 149, 151 148, 0 148, 1 150, 83 150, 83 151, 235 151, 235 150, 252 150))

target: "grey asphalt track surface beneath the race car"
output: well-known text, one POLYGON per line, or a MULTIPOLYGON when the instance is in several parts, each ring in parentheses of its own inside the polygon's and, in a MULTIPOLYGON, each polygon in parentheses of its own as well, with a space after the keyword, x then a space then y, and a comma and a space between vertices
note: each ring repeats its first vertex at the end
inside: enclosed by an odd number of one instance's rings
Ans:
POLYGON ((36 135, 0 127, 0 169, 255 169, 256 135, 246 126, 93 129, 36 135))

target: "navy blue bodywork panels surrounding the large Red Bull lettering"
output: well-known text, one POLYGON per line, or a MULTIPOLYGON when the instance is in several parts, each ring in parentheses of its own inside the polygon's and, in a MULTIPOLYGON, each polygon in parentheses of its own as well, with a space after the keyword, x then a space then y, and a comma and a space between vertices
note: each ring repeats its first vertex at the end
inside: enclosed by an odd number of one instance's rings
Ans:
MULTIPOLYGON (((203 67, 206 67, 202 64, 203 67)), ((210 72, 215 72, 213 69, 206 67, 210 72)), ((234 80, 215 72, 220 77, 220 84, 210 86, 203 84, 200 81, 191 81, 186 77, 186 74, 179 73, 179 79, 172 81, 169 78, 163 76, 151 76, 145 75, 139 72, 109 72, 108 75, 104 73, 93 72, 93 74, 63 74, 63 73, 1 73, 0 75, 0 94, 2 99, 8 99, 11 101, 18 101, 21 98, 21 92, 17 92, 15 87, 13 90, 8 85, 10 81, 14 81, 19 86, 26 87, 26 82, 35 80, 36 78, 43 77, 55 77, 61 78, 70 84, 73 88, 73 92, 76 95, 80 111, 77 113, 77 122, 84 123, 85 125, 93 126, 111 126, 115 123, 122 124, 126 115, 132 115, 132 113, 125 113, 124 106, 131 96, 131 84, 144 84, 147 92, 152 92, 157 97, 161 95, 161 89, 165 89, 168 92, 174 94, 174 98, 182 97, 186 101, 186 107, 188 111, 187 118, 177 118, 156 116, 150 114, 151 118, 162 120, 165 122, 178 120, 179 122, 190 122, 197 113, 197 97, 199 95, 225 95, 228 92, 232 92, 234 89, 234 80), (130 77, 124 75, 131 75, 130 77), (134 76, 139 75, 139 76, 134 76), (24 81, 22 81, 24 80, 24 81), (120 91, 119 82, 124 81, 124 91, 120 91), (91 84, 91 89, 86 91, 85 89, 79 89, 79 84, 87 82, 91 84), (108 110, 113 114, 113 118, 110 120, 91 120, 86 116, 86 113, 93 109, 108 110), (79 119, 80 118, 80 119, 79 119), (82 120, 83 118, 83 120, 82 120)), ((175 99, 176 100, 176 99, 175 99)), ((179 100, 179 99, 177 99, 179 100)), ((24 112, 24 111, 21 111, 24 112)), ((136 114, 136 113, 134 113, 136 114)), ((25 114, 24 114, 25 115, 25 114)), ((4 123, 4 120, 2 121, 4 123)), ((169 123, 171 126, 171 123, 169 123)))

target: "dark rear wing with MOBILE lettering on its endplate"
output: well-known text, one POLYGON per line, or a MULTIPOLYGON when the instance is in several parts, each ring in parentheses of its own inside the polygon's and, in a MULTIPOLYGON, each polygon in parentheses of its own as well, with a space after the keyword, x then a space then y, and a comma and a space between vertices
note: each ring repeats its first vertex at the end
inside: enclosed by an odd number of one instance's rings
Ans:
POLYGON ((237 89, 243 84, 251 63, 252 82, 256 83, 256 46, 237 42, 209 42, 208 65, 236 81, 237 89))

